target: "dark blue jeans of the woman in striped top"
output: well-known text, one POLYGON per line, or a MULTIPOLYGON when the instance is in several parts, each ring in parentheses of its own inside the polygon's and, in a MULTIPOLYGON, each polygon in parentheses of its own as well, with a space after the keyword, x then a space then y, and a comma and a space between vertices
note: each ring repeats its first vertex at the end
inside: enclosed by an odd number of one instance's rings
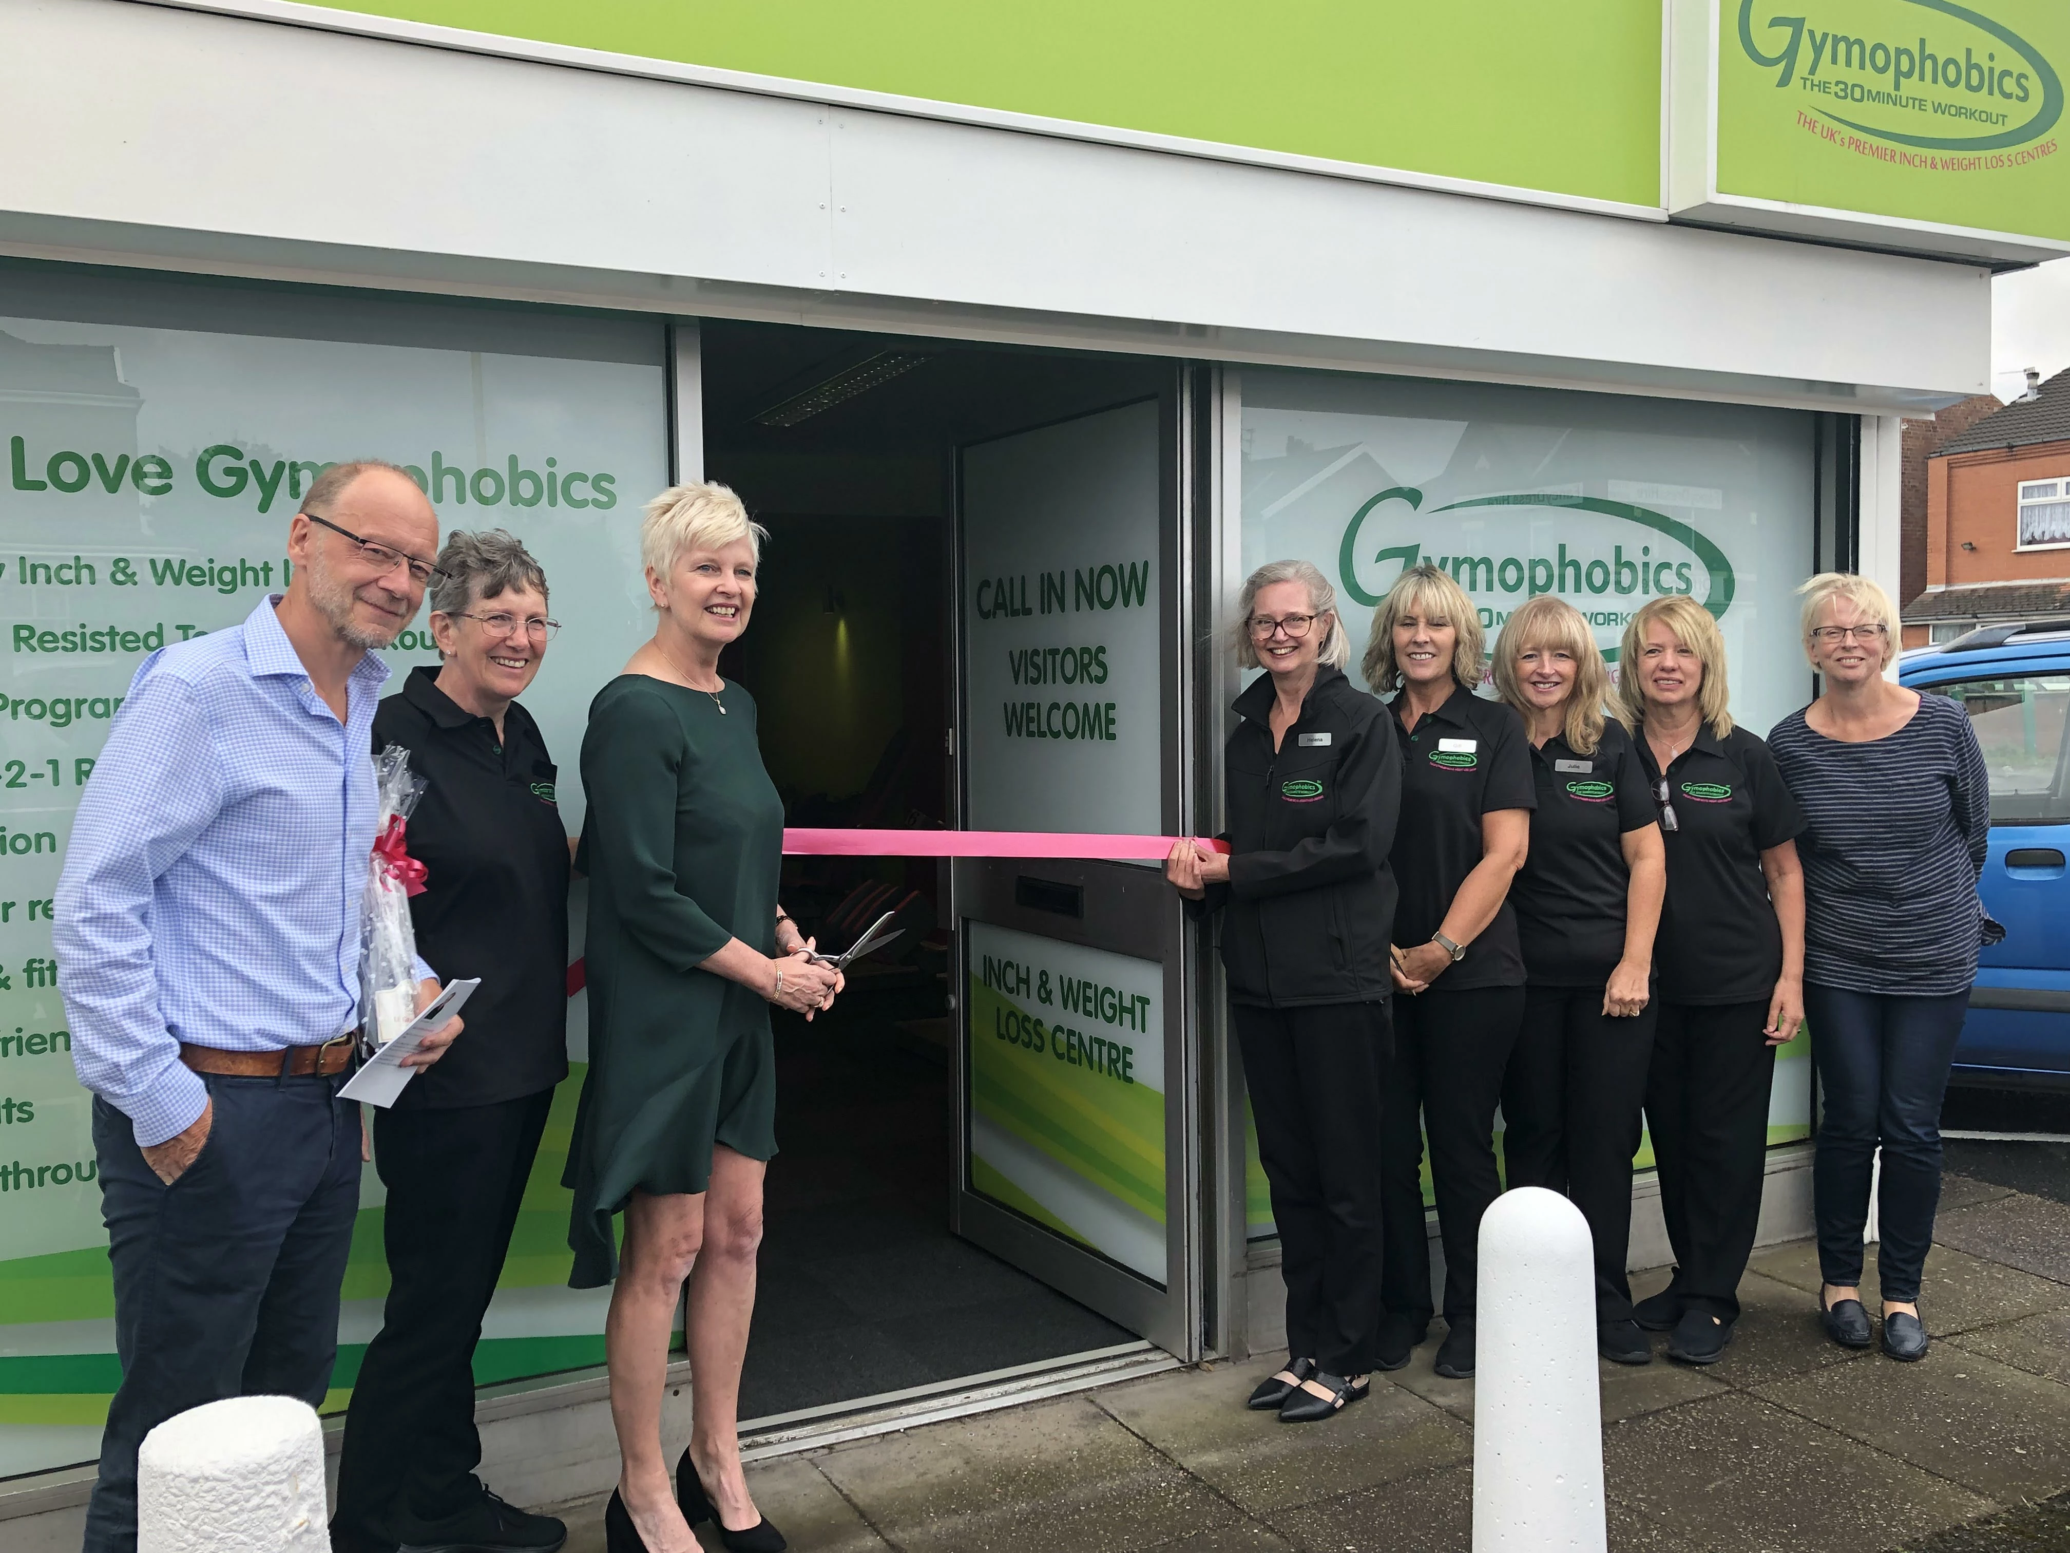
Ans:
POLYGON ((1884 1298, 1919 1298, 1919 1276, 1933 1244, 1933 1209, 1940 1207, 1940 1108, 1966 1010, 1969 992, 1913 998, 1805 988, 1811 1060, 1824 1102, 1811 1201, 1820 1271, 1828 1284, 1861 1282, 1869 1172, 1882 1145, 1877 1271, 1884 1298))

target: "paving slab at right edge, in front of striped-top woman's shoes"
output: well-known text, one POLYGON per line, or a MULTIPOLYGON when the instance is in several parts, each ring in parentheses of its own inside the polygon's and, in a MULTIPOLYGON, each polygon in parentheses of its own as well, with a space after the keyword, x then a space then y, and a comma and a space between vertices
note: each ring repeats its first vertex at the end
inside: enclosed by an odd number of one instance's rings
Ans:
POLYGON ((2070 1385, 1938 1346, 1917 1365, 1846 1365, 1755 1394, 2002 1503, 2070 1489, 2070 1385))

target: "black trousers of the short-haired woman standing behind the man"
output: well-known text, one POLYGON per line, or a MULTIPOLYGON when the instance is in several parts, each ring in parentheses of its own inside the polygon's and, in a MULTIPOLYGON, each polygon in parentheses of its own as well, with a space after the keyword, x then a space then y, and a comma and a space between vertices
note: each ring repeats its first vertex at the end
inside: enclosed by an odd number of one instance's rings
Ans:
POLYGON ((474 1344, 503 1276, 553 1091, 375 1114, 389 1296, 346 1412, 337 1522, 389 1541, 457 1516, 474 1468, 474 1344))

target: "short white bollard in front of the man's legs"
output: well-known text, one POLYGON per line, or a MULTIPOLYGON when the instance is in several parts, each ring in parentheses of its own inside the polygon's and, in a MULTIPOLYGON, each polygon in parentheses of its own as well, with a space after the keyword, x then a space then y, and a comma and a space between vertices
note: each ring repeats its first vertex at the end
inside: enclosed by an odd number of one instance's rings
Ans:
POLYGON ((292 1396, 188 1408, 137 1454, 137 1553, 329 1553, 323 1425, 292 1396))

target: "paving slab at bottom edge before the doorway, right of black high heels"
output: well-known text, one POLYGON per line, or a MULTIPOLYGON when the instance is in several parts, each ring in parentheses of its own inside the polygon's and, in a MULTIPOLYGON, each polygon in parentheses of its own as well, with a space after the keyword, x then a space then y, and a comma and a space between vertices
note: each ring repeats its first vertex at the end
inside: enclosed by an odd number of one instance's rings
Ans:
POLYGON ((1091 1396, 863 1439, 809 1460, 907 1553, 1124 1553, 1242 1520, 1091 1396))

